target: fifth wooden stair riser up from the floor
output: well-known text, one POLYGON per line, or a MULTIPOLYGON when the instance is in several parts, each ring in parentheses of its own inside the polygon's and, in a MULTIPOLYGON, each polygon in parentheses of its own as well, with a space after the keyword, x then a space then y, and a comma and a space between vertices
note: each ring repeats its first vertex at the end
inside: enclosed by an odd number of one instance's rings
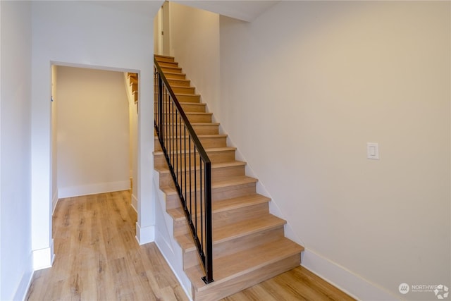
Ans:
MULTIPOLYGON (((185 166, 183 166, 183 168, 185 168, 185 166)), ((196 172, 192 171, 191 172, 191 183, 194 184, 194 174, 197 175, 197 183, 199 183, 199 170, 197 170, 196 172)), ((221 167, 221 168, 211 168, 211 180, 215 181, 215 180, 224 180, 226 178, 231 178, 233 176, 245 176, 245 166, 244 165, 240 165, 240 166, 225 166, 225 167, 221 167)), ((186 175, 187 178, 187 185, 189 185, 190 183, 190 173, 187 172, 186 175)), ((183 183, 185 183, 185 172, 183 171, 182 175, 180 175, 180 180, 183 181, 183 183)), ((173 179, 170 173, 160 173, 160 187, 165 187, 165 186, 169 186, 169 187, 175 187, 174 183, 173 183, 173 179)))

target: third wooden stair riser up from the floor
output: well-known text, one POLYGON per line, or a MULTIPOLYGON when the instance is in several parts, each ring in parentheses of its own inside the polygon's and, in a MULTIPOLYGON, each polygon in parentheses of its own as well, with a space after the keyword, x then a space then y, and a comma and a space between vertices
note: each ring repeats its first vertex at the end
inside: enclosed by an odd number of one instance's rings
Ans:
MULTIPOLYGON (((268 203, 254 204, 244 208, 216 212, 213 214, 213 228, 215 229, 221 226, 226 226, 228 223, 235 223, 245 219, 254 219, 258 216, 268 214, 268 212, 268 203)), ((186 219, 174 221, 174 233, 175 236, 183 233, 190 233, 190 228, 188 227, 186 219)), ((215 244, 214 250, 216 250, 216 245, 219 246, 221 243, 215 244)))

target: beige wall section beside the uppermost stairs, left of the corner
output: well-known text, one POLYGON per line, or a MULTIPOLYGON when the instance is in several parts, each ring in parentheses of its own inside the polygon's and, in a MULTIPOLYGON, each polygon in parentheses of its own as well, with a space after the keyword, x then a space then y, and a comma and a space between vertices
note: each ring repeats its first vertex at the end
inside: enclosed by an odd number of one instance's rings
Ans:
POLYGON ((214 111, 220 91, 219 15, 173 2, 168 7, 171 56, 214 111))

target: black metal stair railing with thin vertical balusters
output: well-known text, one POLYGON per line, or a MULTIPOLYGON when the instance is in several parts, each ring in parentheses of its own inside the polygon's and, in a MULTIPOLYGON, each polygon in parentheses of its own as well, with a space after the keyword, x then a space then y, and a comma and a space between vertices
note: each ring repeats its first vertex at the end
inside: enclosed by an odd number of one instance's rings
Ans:
POLYGON ((211 161, 154 58, 154 123, 175 189, 204 267, 213 282, 211 161))

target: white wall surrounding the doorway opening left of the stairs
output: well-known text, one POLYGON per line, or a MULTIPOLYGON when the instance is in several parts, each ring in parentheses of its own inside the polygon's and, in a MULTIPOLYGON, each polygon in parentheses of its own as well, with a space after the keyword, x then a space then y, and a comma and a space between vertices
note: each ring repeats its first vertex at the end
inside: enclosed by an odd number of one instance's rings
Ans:
POLYGON ((137 239, 152 241, 153 18, 162 1, 32 2, 32 249, 51 264, 51 64, 140 73, 137 239), (133 47, 130 47, 133 45, 133 47), (141 168, 142 166, 142 168, 141 168), (141 214, 143 213, 143 214, 141 214), (145 213, 145 214, 144 214, 145 213))

